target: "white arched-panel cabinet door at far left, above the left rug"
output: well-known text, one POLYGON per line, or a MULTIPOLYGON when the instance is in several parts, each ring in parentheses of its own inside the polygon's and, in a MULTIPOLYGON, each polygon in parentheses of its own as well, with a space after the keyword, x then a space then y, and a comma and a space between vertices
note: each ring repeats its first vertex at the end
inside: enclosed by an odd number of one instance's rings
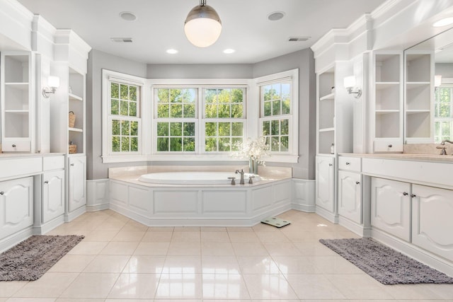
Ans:
POLYGON ((33 177, 0 182, 0 238, 33 225, 33 177))

